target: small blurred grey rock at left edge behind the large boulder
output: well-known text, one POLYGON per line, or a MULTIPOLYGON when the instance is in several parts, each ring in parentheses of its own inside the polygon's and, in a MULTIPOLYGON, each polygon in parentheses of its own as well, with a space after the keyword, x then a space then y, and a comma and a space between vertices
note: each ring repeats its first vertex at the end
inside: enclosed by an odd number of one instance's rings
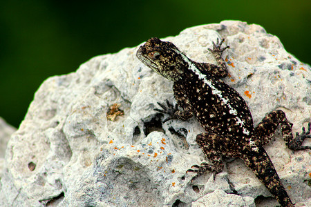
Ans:
POLYGON ((16 128, 10 126, 4 119, 0 117, 0 179, 2 177, 2 170, 4 165, 4 154, 6 152, 6 145, 16 128))

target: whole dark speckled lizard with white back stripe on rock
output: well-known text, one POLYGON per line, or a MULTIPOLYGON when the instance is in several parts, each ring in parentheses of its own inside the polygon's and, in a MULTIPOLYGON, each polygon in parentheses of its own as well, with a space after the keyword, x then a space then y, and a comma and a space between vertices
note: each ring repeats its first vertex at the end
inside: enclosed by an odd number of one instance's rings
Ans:
MULTIPOLYGON (((281 184, 276 170, 267 152, 263 148, 274 136, 277 126, 281 125, 283 139, 292 150, 310 149, 301 146, 305 138, 310 138, 308 131, 301 135, 292 135, 292 124, 286 119, 282 110, 270 112, 256 128, 252 115, 241 95, 228 86, 220 77, 226 77, 227 66, 221 58, 224 39, 213 42, 209 49, 218 62, 218 66, 210 63, 196 63, 186 57, 173 43, 149 39, 137 52, 137 57, 149 68, 163 77, 173 81, 173 93, 182 110, 167 101, 167 106, 158 103, 162 109, 155 109, 169 115, 167 119, 187 120, 196 116, 206 132, 196 137, 196 142, 212 164, 194 165, 187 172, 196 172, 198 177, 205 171, 214 172, 214 177, 223 170, 221 157, 239 157, 251 168, 281 206, 294 206, 281 184)), ((194 179, 193 178, 193 179, 194 179)), ((192 180, 193 180, 192 179, 192 180)))

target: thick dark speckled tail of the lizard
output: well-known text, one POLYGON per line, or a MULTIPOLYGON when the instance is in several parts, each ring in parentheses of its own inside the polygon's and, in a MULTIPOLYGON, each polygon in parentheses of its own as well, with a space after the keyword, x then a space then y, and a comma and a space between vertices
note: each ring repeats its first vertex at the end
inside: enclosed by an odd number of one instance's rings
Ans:
POLYGON ((276 197, 281 206, 294 206, 263 146, 252 146, 252 149, 247 151, 242 159, 256 177, 276 197))

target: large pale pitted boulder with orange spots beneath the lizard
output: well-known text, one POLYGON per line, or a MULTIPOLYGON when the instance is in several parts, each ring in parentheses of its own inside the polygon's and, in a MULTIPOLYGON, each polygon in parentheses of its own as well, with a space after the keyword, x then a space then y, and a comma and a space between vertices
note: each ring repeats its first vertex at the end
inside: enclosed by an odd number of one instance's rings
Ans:
MULTIPOLYGON (((231 47, 224 52, 231 77, 224 80, 245 98, 254 124, 281 108, 294 132, 301 132, 310 121, 311 68, 261 26, 223 21, 164 40, 195 61, 216 63, 207 48, 220 37, 231 47)), ((194 174, 185 171, 205 161, 194 140, 202 128, 194 118, 161 123, 162 115, 153 108, 157 101, 173 101, 172 83, 140 63, 137 49, 94 57, 77 72, 42 83, 8 143, 0 206, 268 202, 256 199, 271 195, 239 159, 225 159, 225 170, 215 181, 208 172, 191 184, 194 174), (111 121, 106 113, 114 103, 124 115, 111 121)), ((310 150, 292 152, 279 132, 275 137, 265 148, 288 194, 299 206, 311 206, 310 150)))

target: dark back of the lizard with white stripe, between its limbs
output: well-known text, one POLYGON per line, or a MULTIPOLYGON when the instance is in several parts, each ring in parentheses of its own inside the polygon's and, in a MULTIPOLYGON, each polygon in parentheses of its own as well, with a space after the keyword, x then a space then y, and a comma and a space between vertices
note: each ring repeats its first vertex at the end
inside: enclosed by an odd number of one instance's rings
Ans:
POLYGON ((185 90, 201 126, 220 135, 250 139, 254 129, 252 115, 241 95, 181 52, 180 55, 187 67, 183 68, 183 79, 176 81, 174 87, 185 90))

